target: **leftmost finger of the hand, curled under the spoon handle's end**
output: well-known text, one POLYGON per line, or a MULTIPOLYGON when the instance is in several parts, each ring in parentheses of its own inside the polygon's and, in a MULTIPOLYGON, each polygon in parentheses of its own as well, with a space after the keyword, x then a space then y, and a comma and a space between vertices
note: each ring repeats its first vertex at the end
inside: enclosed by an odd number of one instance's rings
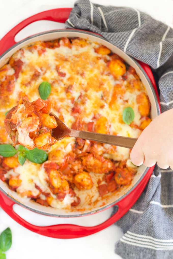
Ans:
POLYGON ((135 166, 141 166, 145 159, 144 153, 141 148, 140 140, 138 139, 130 153, 130 159, 135 166))

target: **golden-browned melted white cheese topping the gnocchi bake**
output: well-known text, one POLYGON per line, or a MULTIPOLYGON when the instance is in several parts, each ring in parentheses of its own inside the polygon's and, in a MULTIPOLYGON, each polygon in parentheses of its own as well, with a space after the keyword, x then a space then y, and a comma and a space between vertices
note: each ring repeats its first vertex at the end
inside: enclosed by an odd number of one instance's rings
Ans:
MULTIPOLYGON (((0 97, 0 122, 5 118, 4 113, 17 105, 20 95, 26 95, 30 102, 40 98, 39 84, 47 81, 51 84, 51 94, 48 100, 52 103, 52 112, 58 117, 61 116, 61 119, 68 127, 71 127, 77 118, 86 124, 90 121, 96 123, 96 119, 103 116, 106 117, 110 125, 110 134, 139 137, 141 130, 124 124, 122 113, 125 107, 132 107, 135 113, 133 123, 140 126, 141 115, 138 110, 139 105, 136 103, 136 96, 141 92, 146 92, 146 90, 142 83, 140 90, 128 87, 127 82, 135 80, 133 75, 127 75, 127 81, 124 81, 121 77, 118 80, 115 79, 110 74, 107 65, 107 62, 111 59, 110 56, 96 53, 94 48, 98 47, 97 43, 89 41, 86 41, 86 43, 85 47, 76 45, 72 45, 72 48, 62 45, 54 49, 46 47, 45 52, 39 55, 38 50, 41 50, 43 46, 42 42, 36 42, 17 51, 12 59, 21 60, 23 65, 19 77, 14 82, 13 91, 8 92, 6 99, 4 99, 3 94, 0 97), (116 85, 121 85, 124 93, 117 94, 113 106, 110 106, 109 103, 116 85), (79 114, 72 112, 74 104, 80 107, 79 114)), ((6 76, 13 76, 14 73, 15 70, 8 65, 4 74, 1 74, 0 86, 1 83, 5 83, 6 76)), ((21 124, 20 111, 22 111, 22 106, 20 109, 18 119, 21 124)), ((32 140, 29 138, 29 132, 23 130, 20 125, 17 130, 19 141, 23 145, 31 145, 32 140)), ((11 143, 3 123, 0 123, 0 131, 0 143, 11 143)), ((52 146, 50 152, 60 150, 61 155, 65 156, 71 152, 74 142, 74 138, 60 140, 52 146)), ((89 142, 86 141, 83 152, 85 152, 88 145, 89 142)), ((127 166, 133 167, 129 159, 129 149, 127 148, 111 148, 110 145, 98 145, 98 155, 103 155, 105 158, 115 161, 127 160, 127 166)), ((93 190, 98 198, 98 176, 92 173, 91 175, 94 182, 93 190)), ((33 195, 38 195, 39 190, 35 187, 35 184, 42 191, 50 193, 53 197, 52 207, 63 208, 64 206, 70 206, 74 200, 74 198, 66 195, 63 202, 60 202, 50 192, 46 181, 48 180, 47 174, 44 167, 39 164, 26 160, 23 166, 11 169, 5 174, 6 178, 11 176, 18 176, 22 180, 22 184, 17 188, 18 193, 30 190, 33 195)), ((86 193, 89 190, 79 191, 75 189, 75 192, 80 196, 82 192, 86 193)), ((40 194, 39 197, 43 200, 46 199, 43 194, 40 194)))

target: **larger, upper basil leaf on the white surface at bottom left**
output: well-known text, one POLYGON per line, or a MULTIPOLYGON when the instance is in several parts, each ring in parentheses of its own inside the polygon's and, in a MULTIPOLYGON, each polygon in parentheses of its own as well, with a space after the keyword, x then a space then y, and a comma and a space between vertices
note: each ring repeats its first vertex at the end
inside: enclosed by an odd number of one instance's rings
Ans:
POLYGON ((1 251, 5 252, 8 249, 10 249, 11 244, 12 244, 12 234, 11 234, 11 229, 8 227, 0 235, 1 251))

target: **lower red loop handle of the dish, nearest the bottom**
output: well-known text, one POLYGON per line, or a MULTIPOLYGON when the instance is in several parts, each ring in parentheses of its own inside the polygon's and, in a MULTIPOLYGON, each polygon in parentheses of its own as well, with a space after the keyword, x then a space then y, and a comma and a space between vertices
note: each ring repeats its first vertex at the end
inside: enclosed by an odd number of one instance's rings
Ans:
POLYGON ((128 196, 120 200, 120 202, 114 204, 118 206, 118 211, 112 217, 110 217, 105 222, 93 227, 83 227, 72 224, 60 224, 46 227, 32 225, 13 211, 13 205, 15 202, 13 202, 2 192, 0 192, 0 206, 12 219, 14 219, 20 225, 40 235, 61 239, 80 238, 99 232, 119 220, 139 198, 153 172, 153 169, 154 167, 149 168, 147 174, 143 177, 142 181, 135 187, 135 189, 131 191, 128 196))

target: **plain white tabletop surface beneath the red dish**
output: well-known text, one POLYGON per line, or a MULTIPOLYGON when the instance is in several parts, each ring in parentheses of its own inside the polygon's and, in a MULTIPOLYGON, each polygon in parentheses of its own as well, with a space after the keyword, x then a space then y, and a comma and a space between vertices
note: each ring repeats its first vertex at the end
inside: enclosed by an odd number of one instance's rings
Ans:
MULTIPOLYGON (((23 19, 41 11, 58 7, 73 7, 75 1, 64 0, 0 0, 0 38, 8 32, 13 26, 18 24, 23 19)), ((141 11, 147 12, 155 19, 161 20, 170 26, 173 26, 173 1, 172 0, 97 0, 93 3, 117 5, 117 6, 131 6, 141 11)), ((54 22, 38 22, 24 29, 16 37, 16 41, 21 40, 30 34, 51 30, 54 28, 62 28, 62 24, 54 22)), ((112 211, 112 208, 101 213, 82 217, 78 219, 57 219, 46 216, 41 216, 30 212, 18 205, 14 206, 17 212, 25 220, 32 224, 46 226, 51 224, 72 223, 83 226, 93 226, 105 221, 112 211)), ((119 228, 112 225, 107 229, 96 233, 94 235, 79 238, 79 239, 53 239, 45 236, 32 233, 23 228, 12 220, 0 208, 0 232, 6 227, 12 230, 12 247, 6 253, 7 259, 57 259, 57 258, 121 258, 114 253, 114 244, 122 235, 119 228)), ((131 258, 130 258, 131 259, 131 258)))

